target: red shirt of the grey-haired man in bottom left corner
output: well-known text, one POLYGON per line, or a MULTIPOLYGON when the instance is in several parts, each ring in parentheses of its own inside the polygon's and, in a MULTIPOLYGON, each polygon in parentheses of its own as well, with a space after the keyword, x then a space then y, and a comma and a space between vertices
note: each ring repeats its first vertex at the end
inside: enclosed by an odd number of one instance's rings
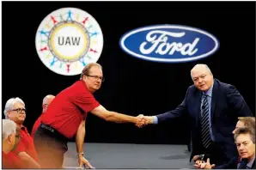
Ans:
POLYGON ((22 161, 12 152, 9 152, 8 154, 5 154, 2 151, 2 163, 4 169, 21 169, 24 168, 22 165, 22 161))

